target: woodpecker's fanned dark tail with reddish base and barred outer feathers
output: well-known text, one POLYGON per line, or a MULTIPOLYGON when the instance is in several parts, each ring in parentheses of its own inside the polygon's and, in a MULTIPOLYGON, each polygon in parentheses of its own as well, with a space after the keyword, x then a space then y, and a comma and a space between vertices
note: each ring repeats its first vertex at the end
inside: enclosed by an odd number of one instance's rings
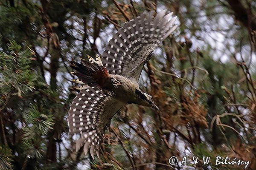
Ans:
POLYGON ((99 55, 96 56, 96 60, 90 56, 87 56, 88 60, 81 59, 81 63, 72 62, 71 68, 76 70, 73 74, 79 78, 79 82, 83 82, 90 86, 101 85, 104 79, 108 77, 108 71, 103 66, 99 55))

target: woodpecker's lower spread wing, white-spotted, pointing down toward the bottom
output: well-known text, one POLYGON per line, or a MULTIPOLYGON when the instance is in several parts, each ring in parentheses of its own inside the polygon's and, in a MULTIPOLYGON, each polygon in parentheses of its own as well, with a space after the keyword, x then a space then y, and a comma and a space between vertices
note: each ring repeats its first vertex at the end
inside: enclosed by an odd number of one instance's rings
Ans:
POLYGON ((113 115, 122 107, 122 103, 110 96, 106 96, 102 89, 85 85, 73 99, 68 112, 69 133, 80 133, 76 142, 76 150, 84 144, 86 154, 90 147, 90 154, 96 149, 99 157, 99 144, 102 141, 106 127, 113 115))

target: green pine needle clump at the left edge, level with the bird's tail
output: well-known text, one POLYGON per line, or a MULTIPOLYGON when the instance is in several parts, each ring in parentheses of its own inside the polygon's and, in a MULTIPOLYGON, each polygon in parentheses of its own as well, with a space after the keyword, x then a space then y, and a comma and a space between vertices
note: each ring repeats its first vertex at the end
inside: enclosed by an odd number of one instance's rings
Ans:
POLYGON ((35 88, 36 74, 30 69, 32 51, 24 50, 15 41, 8 44, 10 54, 0 51, 0 96, 17 94, 22 97, 27 91, 35 88))

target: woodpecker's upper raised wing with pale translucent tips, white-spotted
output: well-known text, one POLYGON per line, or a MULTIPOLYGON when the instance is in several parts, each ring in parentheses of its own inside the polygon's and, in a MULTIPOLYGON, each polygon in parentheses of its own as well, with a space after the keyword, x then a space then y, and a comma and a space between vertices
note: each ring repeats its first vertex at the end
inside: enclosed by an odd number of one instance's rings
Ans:
POLYGON ((156 17, 154 11, 141 14, 126 22, 113 35, 102 55, 102 62, 109 73, 134 76, 138 81, 150 54, 177 28, 177 25, 172 26, 176 17, 172 17, 172 13, 166 14, 166 11, 161 11, 156 17))

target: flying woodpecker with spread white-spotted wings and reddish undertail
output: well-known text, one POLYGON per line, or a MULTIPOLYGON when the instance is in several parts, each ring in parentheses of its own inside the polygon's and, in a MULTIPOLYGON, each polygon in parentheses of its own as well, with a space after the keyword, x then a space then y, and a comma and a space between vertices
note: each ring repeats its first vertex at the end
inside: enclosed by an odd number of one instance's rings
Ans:
POLYGON ((76 151, 83 147, 99 158, 100 144, 113 116, 131 103, 159 110, 152 96, 139 88, 139 78, 145 63, 154 56, 158 45, 175 31, 173 13, 162 10, 140 14, 124 23, 108 45, 102 57, 72 62, 80 91, 73 99, 67 123, 70 136, 80 133, 76 151))

